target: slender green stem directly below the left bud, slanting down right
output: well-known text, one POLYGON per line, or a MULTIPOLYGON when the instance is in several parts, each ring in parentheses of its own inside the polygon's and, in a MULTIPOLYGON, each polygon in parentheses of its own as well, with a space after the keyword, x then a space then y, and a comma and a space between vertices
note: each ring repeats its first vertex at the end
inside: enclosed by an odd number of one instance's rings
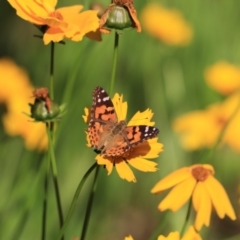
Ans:
MULTIPOLYGON (((58 217, 59 217, 60 228, 62 228, 64 220, 63 220, 63 212, 62 212, 61 198, 60 198, 59 185, 58 185, 57 165, 56 165, 56 159, 55 159, 55 154, 53 149, 51 126, 52 125, 50 123, 50 127, 47 127, 47 134, 48 134, 48 141, 49 141, 49 151, 50 151, 53 183, 54 183, 55 195, 57 200, 58 217)), ((64 237, 62 237, 62 240, 64 240, 64 237)))

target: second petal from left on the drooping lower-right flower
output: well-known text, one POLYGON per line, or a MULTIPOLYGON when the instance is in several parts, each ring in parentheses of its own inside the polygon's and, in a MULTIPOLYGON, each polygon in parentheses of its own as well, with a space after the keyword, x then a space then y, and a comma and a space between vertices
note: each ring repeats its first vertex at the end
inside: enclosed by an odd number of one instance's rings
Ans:
POLYGON ((160 211, 165 211, 166 209, 171 209, 173 212, 177 211, 191 197, 195 185, 196 180, 194 178, 188 178, 179 183, 162 200, 158 209, 160 211))

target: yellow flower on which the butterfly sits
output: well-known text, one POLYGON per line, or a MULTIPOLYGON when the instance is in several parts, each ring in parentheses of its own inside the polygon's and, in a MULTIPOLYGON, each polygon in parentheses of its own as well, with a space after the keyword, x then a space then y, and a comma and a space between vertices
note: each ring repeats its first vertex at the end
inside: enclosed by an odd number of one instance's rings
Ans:
MULTIPOLYGON (((123 96, 115 94, 112 102, 118 116, 118 121, 125 120, 127 115, 127 102, 123 102, 123 96)), ((150 109, 147 109, 144 112, 137 112, 129 121, 128 126, 153 126, 155 123, 151 121, 152 116, 153 113, 150 109)), ((85 115, 83 118, 85 122, 89 122, 89 109, 85 108, 85 115)), ((98 154, 96 156, 97 163, 106 167, 108 175, 111 174, 113 166, 115 166, 120 178, 126 179, 129 182, 136 182, 136 178, 129 165, 143 172, 155 172, 157 170, 157 163, 146 159, 156 158, 159 153, 163 151, 163 145, 157 141, 157 138, 152 138, 140 143, 136 147, 133 147, 131 151, 127 152, 125 156, 104 157, 103 155, 98 154)), ((88 134, 87 142, 87 146, 91 147, 88 134)))

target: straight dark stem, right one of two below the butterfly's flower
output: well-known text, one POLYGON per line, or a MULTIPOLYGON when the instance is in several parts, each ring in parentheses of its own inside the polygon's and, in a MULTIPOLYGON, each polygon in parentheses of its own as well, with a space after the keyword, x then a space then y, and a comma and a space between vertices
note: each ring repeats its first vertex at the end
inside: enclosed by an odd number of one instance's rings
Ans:
POLYGON ((94 180, 93 180, 93 184, 92 184, 92 190, 91 190, 90 195, 89 195, 87 210, 86 210, 86 214, 85 214, 85 217, 84 217, 83 228, 82 228, 82 233, 81 233, 81 237, 80 237, 81 240, 84 240, 86 235, 87 235, 87 229, 88 229, 89 219, 90 219, 90 216, 91 216, 93 199, 94 199, 96 189, 97 189, 98 173, 99 173, 99 165, 96 168, 96 172, 95 172, 95 176, 94 176, 94 180))

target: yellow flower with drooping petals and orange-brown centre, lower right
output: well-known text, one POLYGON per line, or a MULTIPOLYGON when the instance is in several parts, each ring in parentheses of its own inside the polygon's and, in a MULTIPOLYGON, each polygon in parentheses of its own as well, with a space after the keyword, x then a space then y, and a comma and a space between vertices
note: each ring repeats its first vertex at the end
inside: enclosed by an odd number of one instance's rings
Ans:
POLYGON ((158 209, 176 212, 192 197, 192 204, 197 212, 194 226, 198 231, 203 225, 209 226, 212 209, 215 209, 220 218, 227 215, 235 220, 236 215, 227 193, 213 175, 214 169, 208 164, 184 167, 169 174, 151 190, 152 193, 160 193, 173 187, 160 202, 158 209))

